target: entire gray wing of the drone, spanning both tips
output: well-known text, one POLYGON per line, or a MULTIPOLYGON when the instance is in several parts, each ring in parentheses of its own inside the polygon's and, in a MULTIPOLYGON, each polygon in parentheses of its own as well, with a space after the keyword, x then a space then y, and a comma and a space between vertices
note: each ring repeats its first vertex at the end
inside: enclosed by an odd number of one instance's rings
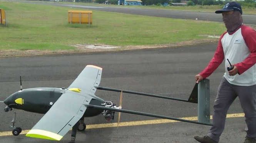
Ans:
POLYGON ((68 90, 60 96, 50 110, 26 134, 33 138, 61 140, 84 115, 95 86, 99 86, 102 68, 87 65, 68 90))

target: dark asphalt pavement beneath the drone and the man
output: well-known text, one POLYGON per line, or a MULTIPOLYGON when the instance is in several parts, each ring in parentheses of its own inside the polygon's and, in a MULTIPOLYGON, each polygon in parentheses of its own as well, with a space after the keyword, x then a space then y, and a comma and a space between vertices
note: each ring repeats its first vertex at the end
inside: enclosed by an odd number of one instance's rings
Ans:
MULTIPOLYGON (((100 86, 188 99, 195 84, 194 75, 206 67, 216 46, 217 43, 213 43, 122 52, 2 58, 0 59, 0 101, 20 89, 20 75, 23 79, 23 89, 67 88, 86 65, 103 68, 100 86)), ((211 111, 223 73, 224 65, 222 64, 208 78, 211 86, 211 111)), ((97 90, 95 95, 119 104, 120 93, 97 90)), ((0 143, 67 143, 70 141, 71 132, 59 142, 28 138, 25 135, 2 136, 4 131, 11 131, 8 124, 13 115, 13 112, 3 112, 4 107, 5 105, 1 103, 0 143)), ((126 93, 123 95, 122 108, 171 117, 197 116, 197 104, 126 93)), ((228 114, 242 112, 239 101, 236 99, 228 114)), ((16 126, 29 130, 42 116, 18 110, 16 126)), ((146 122, 145 120, 155 119, 122 113, 120 122, 146 122)), ((102 115, 85 118, 87 125, 116 122, 117 119, 108 122, 102 115)), ((219 143, 242 142, 246 135, 243 131, 244 127, 244 117, 228 118, 219 143)), ((185 122, 95 128, 78 133, 76 143, 196 143, 193 136, 206 135, 209 128, 209 126, 185 122)))

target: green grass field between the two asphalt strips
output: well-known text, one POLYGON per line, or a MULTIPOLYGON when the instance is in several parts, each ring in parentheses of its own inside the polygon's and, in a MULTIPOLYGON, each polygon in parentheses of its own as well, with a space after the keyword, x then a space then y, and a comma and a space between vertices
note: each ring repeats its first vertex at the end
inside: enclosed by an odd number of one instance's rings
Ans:
MULTIPOLYGON (((0 50, 69 50, 74 44, 112 46, 171 44, 221 35, 223 23, 93 11, 92 25, 67 24, 70 8, 0 2, 8 27, 0 27, 0 50)), ((72 10, 79 10, 73 9, 72 10)))

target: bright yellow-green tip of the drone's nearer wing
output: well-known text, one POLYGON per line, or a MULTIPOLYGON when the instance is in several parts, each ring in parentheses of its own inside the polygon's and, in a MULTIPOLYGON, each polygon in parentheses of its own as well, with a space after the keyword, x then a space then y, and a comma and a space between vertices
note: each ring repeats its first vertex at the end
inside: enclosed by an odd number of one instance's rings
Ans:
POLYGON ((62 139, 63 136, 58 135, 57 133, 52 133, 49 131, 45 131, 45 130, 30 130, 26 136, 28 137, 32 137, 32 138, 42 138, 42 139, 46 139, 46 140, 56 140, 56 141, 60 141, 62 139))

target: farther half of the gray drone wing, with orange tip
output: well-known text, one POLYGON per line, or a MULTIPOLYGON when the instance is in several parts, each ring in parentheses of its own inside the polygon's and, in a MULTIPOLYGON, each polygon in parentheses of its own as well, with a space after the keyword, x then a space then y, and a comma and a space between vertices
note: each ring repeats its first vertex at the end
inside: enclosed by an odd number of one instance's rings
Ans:
POLYGON ((100 84, 101 73, 102 68, 94 65, 87 65, 68 89, 80 88, 94 94, 97 89, 95 87, 100 84))

